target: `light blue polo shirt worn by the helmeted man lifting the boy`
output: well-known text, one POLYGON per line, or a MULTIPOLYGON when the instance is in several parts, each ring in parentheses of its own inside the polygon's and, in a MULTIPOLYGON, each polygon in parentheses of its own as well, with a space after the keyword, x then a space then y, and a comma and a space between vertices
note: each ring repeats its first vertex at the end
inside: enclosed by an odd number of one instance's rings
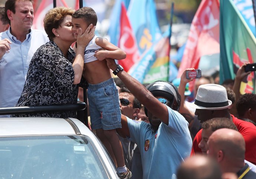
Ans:
POLYGON ((156 133, 150 124, 127 118, 132 142, 140 148, 143 178, 176 178, 176 170, 190 156, 192 139, 188 122, 177 111, 166 106, 169 125, 163 122, 156 133))

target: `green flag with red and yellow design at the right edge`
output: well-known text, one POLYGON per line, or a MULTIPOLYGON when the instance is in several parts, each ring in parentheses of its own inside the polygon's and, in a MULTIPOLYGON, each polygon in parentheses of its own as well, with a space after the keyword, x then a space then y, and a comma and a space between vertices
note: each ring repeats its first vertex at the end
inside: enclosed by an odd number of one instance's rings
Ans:
MULTIPOLYGON (((256 38, 232 0, 220 1, 220 83, 234 79, 245 62, 256 62, 256 38)), ((255 93, 255 72, 243 80, 240 92, 255 93)))

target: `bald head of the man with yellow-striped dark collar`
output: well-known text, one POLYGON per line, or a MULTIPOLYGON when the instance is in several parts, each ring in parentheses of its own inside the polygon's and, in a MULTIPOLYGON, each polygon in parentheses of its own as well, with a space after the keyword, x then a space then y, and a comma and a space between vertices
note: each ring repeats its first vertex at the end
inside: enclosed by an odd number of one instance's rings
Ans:
POLYGON ((216 158, 219 163, 223 163, 223 166, 226 163, 232 163, 232 165, 244 163, 245 142, 238 131, 226 128, 216 130, 208 140, 208 147, 208 155, 216 158))

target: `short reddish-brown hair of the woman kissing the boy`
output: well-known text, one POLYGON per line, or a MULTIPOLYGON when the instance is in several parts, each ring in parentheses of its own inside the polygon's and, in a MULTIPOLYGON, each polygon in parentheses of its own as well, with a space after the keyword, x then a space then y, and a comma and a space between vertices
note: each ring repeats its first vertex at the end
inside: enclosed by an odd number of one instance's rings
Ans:
POLYGON ((58 28, 63 19, 67 15, 72 16, 73 13, 74 10, 68 7, 55 7, 46 13, 45 18, 43 19, 43 26, 45 27, 45 32, 51 41, 53 41, 53 38, 55 37, 52 29, 58 28))

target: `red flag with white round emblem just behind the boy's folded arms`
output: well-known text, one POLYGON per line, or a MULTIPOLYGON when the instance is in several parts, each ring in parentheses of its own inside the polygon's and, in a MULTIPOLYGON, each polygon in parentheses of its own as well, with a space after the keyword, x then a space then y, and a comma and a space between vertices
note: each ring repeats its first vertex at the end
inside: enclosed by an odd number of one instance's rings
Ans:
POLYGON ((126 58, 119 60, 118 63, 124 67, 125 71, 128 71, 139 60, 140 54, 123 2, 121 5, 119 48, 125 51, 126 58))

